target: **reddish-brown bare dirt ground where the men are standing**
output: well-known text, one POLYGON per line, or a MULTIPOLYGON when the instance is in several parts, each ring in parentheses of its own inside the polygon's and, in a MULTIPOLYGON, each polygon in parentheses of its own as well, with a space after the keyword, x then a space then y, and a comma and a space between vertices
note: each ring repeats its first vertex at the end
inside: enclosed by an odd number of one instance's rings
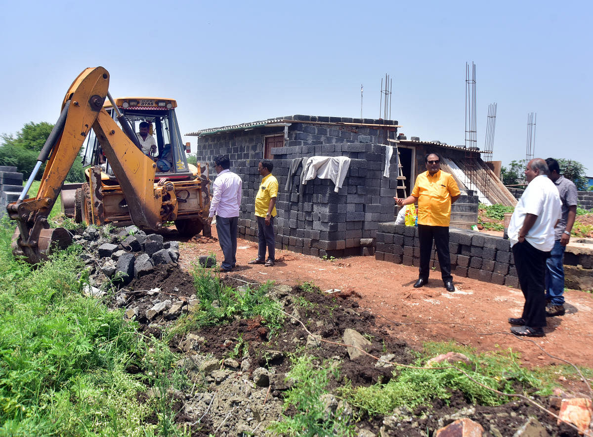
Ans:
MULTIPOLYGON (((216 236, 214 226, 213 236, 216 236)), ((180 266, 191 270, 199 256, 210 253, 215 253, 221 261, 218 242, 184 242, 180 246, 180 266)), ((524 303, 521 290, 454 277, 457 290, 448 293, 438 271, 431 272, 428 285, 416 289, 412 285, 417 279, 417 268, 376 261, 372 256, 326 261, 276 250, 274 267, 248 265, 256 255, 257 242, 239 239, 238 266, 223 275, 291 286, 310 281, 321 290, 340 290, 340 294, 352 295, 361 310, 374 314, 391 335, 415 348, 427 341, 454 340, 477 351, 512 348, 528 366, 568 361, 591 367, 593 363, 591 293, 566 291, 565 316, 547 319, 545 337, 525 339, 512 335, 507 322, 508 317, 521 316, 524 303)))

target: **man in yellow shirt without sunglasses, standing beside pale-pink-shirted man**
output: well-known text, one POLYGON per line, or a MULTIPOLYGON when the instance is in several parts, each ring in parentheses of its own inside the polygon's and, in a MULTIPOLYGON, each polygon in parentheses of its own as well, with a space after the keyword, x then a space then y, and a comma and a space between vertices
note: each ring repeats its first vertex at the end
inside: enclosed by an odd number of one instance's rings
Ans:
POLYGON ((274 217, 276 217, 276 197, 278 197, 278 179, 272 175, 274 164, 264 159, 257 165, 257 170, 263 176, 259 191, 256 195, 257 220, 257 258, 247 264, 264 264, 272 267, 275 263, 276 245, 274 235, 274 217), (267 260, 266 260, 267 247, 267 260), (264 261, 266 260, 266 261, 264 261))

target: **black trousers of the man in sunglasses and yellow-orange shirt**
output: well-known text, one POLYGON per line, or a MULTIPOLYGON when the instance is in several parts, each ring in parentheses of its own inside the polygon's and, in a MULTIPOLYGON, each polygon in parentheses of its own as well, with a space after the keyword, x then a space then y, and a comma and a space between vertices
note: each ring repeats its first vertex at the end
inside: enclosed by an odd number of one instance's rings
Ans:
POLYGON ((419 277, 428 280, 431 272, 432 242, 436 245, 436 254, 441 265, 443 282, 452 281, 451 256, 449 256, 449 227, 418 225, 418 239, 420 240, 420 274, 419 277))

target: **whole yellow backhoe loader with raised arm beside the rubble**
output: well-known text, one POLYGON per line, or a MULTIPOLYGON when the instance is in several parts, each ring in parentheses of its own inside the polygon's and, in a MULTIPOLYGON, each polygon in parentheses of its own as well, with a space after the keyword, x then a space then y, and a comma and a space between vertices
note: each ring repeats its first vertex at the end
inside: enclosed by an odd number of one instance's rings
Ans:
MULTIPOLYGON (((71 243, 63 228, 50 229, 47 216, 60 192, 66 215, 85 224, 127 226, 158 231, 174 221, 184 236, 211 234, 208 220, 209 180, 199 166, 187 163, 175 115, 177 102, 161 98, 122 98, 108 92, 109 72, 87 68, 72 83, 62 102, 58 122, 37 158, 37 165, 16 202, 7 206, 18 228, 13 252, 36 264, 53 248, 71 243), (109 99, 106 102, 106 99, 109 99), (155 132, 152 150, 142 151, 148 138, 136 134, 137 124, 155 132), (75 159, 82 156, 87 182, 64 185, 75 159), (47 162, 37 196, 25 199, 40 167, 47 162)), ((152 135, 151 135, 152 136, 152 135)), ((206 167, 207 169, 207 167, 206 167)))

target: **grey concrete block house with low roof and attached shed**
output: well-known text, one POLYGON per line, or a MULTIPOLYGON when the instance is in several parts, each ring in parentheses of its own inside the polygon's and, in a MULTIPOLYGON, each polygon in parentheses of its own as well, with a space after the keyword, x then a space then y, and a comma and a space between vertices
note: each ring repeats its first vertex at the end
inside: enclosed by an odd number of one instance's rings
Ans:
MULTIPOLYGON (((468 155, 463 147, 438 142, 396 140, 398 127, 393 120, 291 115, 199 130, 187 136, 197 136, 197 162, 212 167, 215 155, 227 154, 231 170, 243 179, 241 236, 257 239, 254 219, 254 198, 260 182, 257 164, 262 159, 271 159, 273 174, 279 182, 277 248, 315 256, 372 255, 373 244, 368 239, 375 239, 380 223, 393 222, 396 212, 393 197, 410 194, 416 175, 425 171, 425 153, 438 152, 447 158, 442 167, 454 174, 460 188, 468 188, 466 184, 472 186, 471 182, 464 183, 468 160, 474 177, 493 176, 479 153, 468 155), (405 179, 398 180, 398 154, 393 146, 399 151, 405 179), (392 155, 387 159, 389 150, 392 155), (340 159, 348 161, 342 187, 320 178, 301 184, 303 158, 313 156, 344 157, 340 159), (405 187, 405 192, 398 186, 405 187)), ((213 176, 210 175, 211 179, 213 176)), ((504 187, 500 189, 502 184, 497 181, 493 176, 491 185, 496 189, 490 190, 492 201, 514 202, 514 197, 504 187)), ((479 185, 479 181, 474 184, 479 185)), ((471 189, 468 197, 475 204, 477 219, 477 197, 471 189)), ((467 219, 463 221, 463 225, 468 224, 467 219)))

